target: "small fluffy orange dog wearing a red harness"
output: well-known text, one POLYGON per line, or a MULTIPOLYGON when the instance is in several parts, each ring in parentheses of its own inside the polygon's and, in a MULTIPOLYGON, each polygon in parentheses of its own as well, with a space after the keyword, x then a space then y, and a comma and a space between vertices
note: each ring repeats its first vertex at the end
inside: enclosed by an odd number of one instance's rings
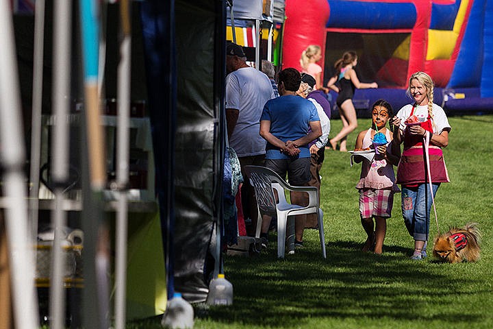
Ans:
POLYGON ((451 228, 433 242, 433 256, 447 263, 475 262, 479 260, 481 232, 477 223, 467 223, 463 228, 451 228))

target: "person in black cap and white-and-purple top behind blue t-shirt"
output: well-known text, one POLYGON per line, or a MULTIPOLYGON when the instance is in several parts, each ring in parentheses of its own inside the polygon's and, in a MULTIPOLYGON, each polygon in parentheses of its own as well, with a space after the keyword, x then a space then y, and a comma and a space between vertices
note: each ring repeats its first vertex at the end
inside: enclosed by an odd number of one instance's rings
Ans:
MULTIPOLYGON (((311 101, 317 109, 318 117, 320 118, 320 125, 322 126, 322 136, 318 137, 315 141, 309 143, 310 151, 310 173, 312 179, 309 181, 309 186, 315 186, 320 193, 320 169, 322 169, 323 161, 325 160, 325 145, 329 140, 330 133, 330 117, 331 106, 323 90, 314 90, 316 82, 312 75, 308 73, 301 73, 301 85, 298 90, 298 95, 305 97, 311 101)), ((307 215, 306 221, 307 228, 317 228, 318 219, 314 214, 307 215)))

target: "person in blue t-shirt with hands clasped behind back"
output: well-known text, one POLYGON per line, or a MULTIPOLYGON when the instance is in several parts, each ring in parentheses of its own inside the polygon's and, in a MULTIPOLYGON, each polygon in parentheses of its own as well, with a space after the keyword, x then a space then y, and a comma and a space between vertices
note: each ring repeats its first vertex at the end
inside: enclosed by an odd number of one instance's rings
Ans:
MULTIPOLYGON (((270 99, 260 117, 260 135, 267 141, 265 166, 286 178, 293 186, 307 186, 310 180, 308 143, 322 135, 320 119, 311 101, 296 95, 301 84, 299 71, 283 69, 277 75, 281 97, 270 99)), ((292 204, 305 206, 308 197, 303 192, 291 193, 292 204)), ((296 215, 294 245, 303 246, 306 215, 296 215)), ((267 239, 270 220, 262 221, 261 241, 267 239)))

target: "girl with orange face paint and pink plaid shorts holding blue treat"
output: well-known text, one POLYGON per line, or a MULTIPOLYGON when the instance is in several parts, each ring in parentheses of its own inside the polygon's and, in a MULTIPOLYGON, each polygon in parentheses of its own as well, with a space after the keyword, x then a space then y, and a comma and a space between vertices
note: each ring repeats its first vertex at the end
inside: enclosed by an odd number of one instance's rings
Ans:
MULTIPOLYGON (((371 127, 360 132, 356 138, 355 149, 371 148, 377 139, 380 139, 375 149, 375 157, 371 161, 366 158, 359 159, 362 161, 362 171, 356 185, 359 191, 359 217, 367 235, 362 247, 363 252, 382 253, 394 193, 400 191, 395 184, 392 167, 399 163, 400 150, 392 143, 392 132, 386 127, 392 115, 390 103, 379 99, 372 106, 371 127)), ((357 158, 355 160, 358 162, 357 158)))

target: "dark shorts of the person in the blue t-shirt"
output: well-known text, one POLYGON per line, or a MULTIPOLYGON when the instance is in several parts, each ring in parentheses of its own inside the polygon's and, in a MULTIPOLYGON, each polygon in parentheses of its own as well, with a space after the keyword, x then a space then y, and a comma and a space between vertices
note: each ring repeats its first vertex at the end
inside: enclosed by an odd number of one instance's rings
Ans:
POLYGON ((306 186, 312 178, 310 174, 310 158, 296 159, 266 159, 265 167, 272 169, 286 179, 288 173, 288 182, 292 186, 306 186))

